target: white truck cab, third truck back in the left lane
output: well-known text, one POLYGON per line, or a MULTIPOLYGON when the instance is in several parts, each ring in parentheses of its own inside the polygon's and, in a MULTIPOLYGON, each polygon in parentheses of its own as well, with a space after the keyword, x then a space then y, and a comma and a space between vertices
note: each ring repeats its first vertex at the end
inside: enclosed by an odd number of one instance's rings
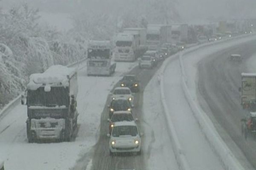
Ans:
POLYGON ((115 37, 115 61, 134 62, 138 57, 140 34, 119 33, 115 37))

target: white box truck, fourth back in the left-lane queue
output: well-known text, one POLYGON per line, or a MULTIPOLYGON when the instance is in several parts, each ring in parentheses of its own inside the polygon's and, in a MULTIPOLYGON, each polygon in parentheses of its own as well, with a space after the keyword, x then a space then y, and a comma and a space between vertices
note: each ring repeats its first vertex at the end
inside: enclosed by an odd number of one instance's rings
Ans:
POLYGON ((146 45, 149 50, 157 50, 163 43, 170 40, 170 29, 172 26, 148 25, 146 45))

